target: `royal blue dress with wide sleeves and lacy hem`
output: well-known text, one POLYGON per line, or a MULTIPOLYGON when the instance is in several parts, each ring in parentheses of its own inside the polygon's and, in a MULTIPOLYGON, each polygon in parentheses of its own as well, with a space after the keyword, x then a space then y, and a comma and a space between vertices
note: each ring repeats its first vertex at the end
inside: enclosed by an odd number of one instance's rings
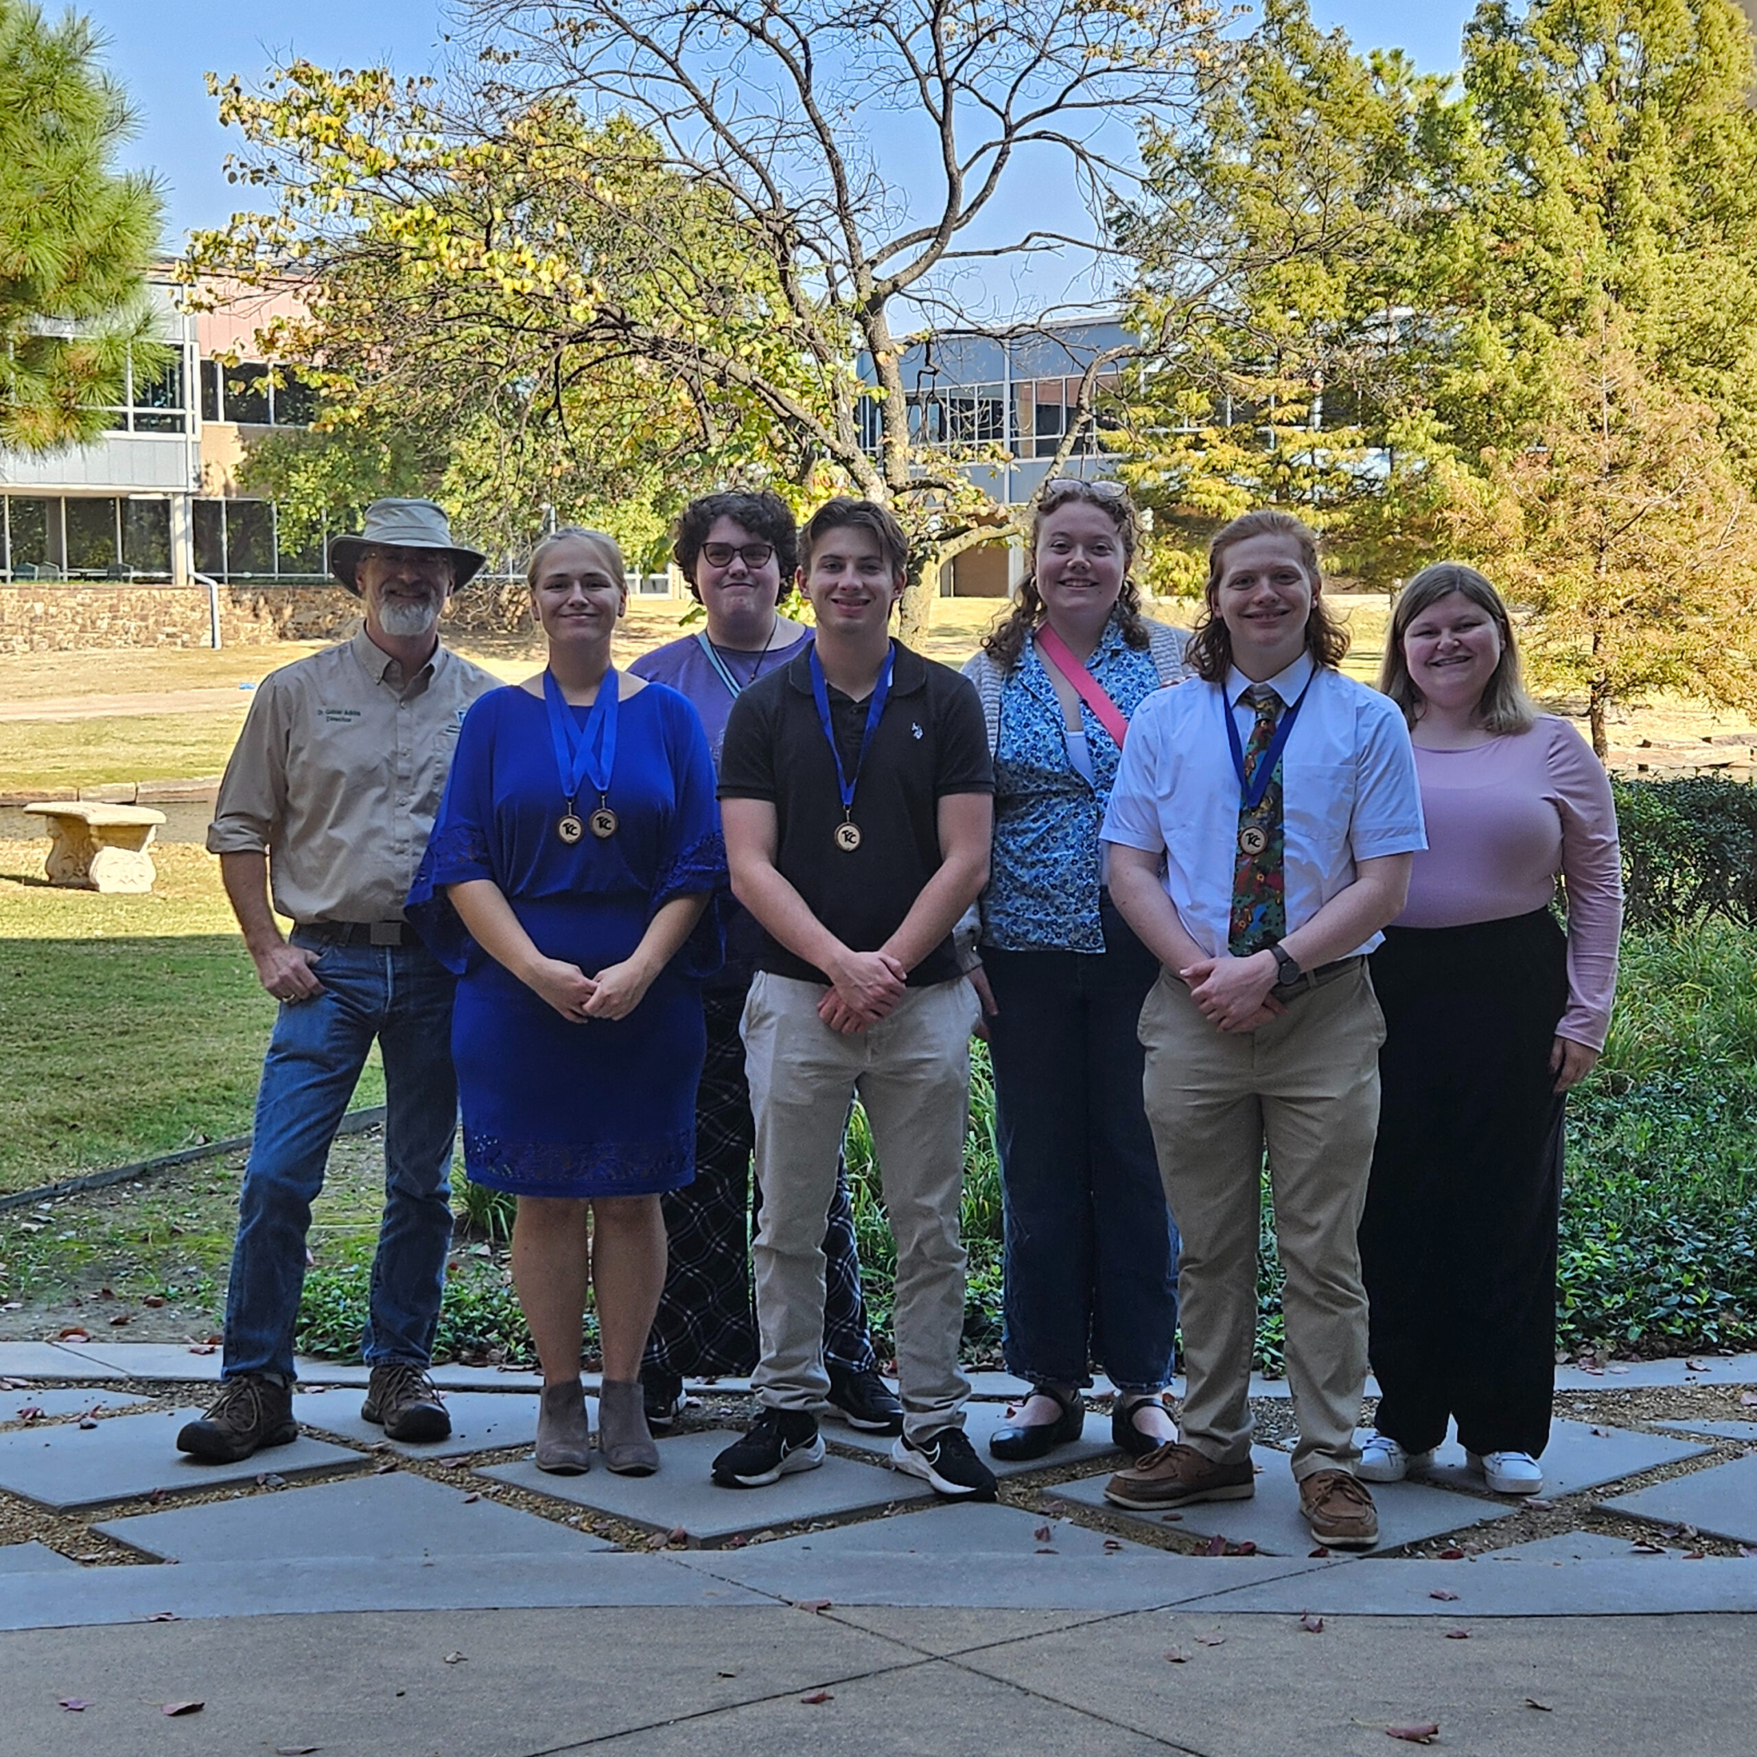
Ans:
MULTIPOLYGON (((585 724, 587 708, 571 710, 585 724)), ((525 1197, 633 1197, 696 1175, 701 979, 720 961, 710 908, 625 1019, 573 1024, 464 931, 445 886, 492 878, 532 944, 596 975, 641 942, 659 907, 726 884, 713 761, 689 701, 648 683, 618 703, 617 833, 571 847, 548 710, 529 691, 464 719, 409 919, 459 973, 452 1056, 473 1182, 525 1197)), ((580 798, 587 817, 596 796, 580 798)))

